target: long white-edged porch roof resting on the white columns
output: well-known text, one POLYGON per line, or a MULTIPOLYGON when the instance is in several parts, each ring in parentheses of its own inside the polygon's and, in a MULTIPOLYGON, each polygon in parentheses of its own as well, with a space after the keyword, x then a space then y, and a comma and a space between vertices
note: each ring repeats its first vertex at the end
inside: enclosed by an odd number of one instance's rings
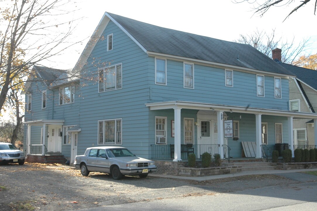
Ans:
POLYGON ((285 111, 285 110, 229 106, 229 105, 210 104, 210 103, 201 103, 201 102, 167 101, 167 102, 151 102, 151 103, 146 103, 145 105, 146 107, 149 107, 150 110, 181 108, 181 109, 218 110, 218 111, 225 111, 225 112, 232 111, 232 112, 247 113, 247 114, 286 116, 286 117, 293 117, 293 119, 317 118, 316 113, 291 112, 291 111, 285 111))

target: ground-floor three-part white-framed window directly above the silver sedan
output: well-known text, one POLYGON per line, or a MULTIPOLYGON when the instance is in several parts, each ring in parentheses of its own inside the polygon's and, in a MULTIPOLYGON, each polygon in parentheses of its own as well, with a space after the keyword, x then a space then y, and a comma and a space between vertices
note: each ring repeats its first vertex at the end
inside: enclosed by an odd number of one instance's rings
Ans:
POLYGON ((122 144, 122 119, 98 121, 98 144, 122 144))

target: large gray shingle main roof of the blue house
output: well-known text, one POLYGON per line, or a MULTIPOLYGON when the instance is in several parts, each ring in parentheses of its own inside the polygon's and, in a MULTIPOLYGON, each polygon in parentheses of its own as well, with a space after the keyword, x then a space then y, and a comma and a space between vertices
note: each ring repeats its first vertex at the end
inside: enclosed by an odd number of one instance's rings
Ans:
POLYGON ((293 75, 250 45, 167 29, 108 13, 147 51, 293 75))

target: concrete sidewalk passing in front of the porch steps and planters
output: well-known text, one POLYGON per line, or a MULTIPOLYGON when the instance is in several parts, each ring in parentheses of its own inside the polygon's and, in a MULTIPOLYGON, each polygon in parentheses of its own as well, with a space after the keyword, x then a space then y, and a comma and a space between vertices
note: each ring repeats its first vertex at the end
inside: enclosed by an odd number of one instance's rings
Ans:
POLYGON ((161 175, 161 174, 149 174, 149 176, 204 181, 204 180, 215 180, 215 179, 244 176, 244 175, 287 174, 287 173, 302 172, 302 171, 317 171, 317 168, 304 168, 304 169, 292 169, 292 170, 274 169, 274 170, 243 171, 243 172, 239 172, 235 174, 211 175, 211 176, 201 176, 201 177, 187 177, 187 176, 174 176, 174 175, 161 175))

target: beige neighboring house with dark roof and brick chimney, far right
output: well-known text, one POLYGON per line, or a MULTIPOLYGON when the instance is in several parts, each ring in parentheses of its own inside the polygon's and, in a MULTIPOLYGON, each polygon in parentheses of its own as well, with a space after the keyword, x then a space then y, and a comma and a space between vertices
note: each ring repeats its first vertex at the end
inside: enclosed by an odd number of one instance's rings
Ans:
MULTIPOLYGON (((296 75, 289 83, 289 110, 315 113, 317 110, 317 71, 281 63, 281 49, 272 58, 296 75)), ((293 120, 294 148, 315 148, 314 120, 293 120), (305 145, 305 146, 304 146, 305 145)))

